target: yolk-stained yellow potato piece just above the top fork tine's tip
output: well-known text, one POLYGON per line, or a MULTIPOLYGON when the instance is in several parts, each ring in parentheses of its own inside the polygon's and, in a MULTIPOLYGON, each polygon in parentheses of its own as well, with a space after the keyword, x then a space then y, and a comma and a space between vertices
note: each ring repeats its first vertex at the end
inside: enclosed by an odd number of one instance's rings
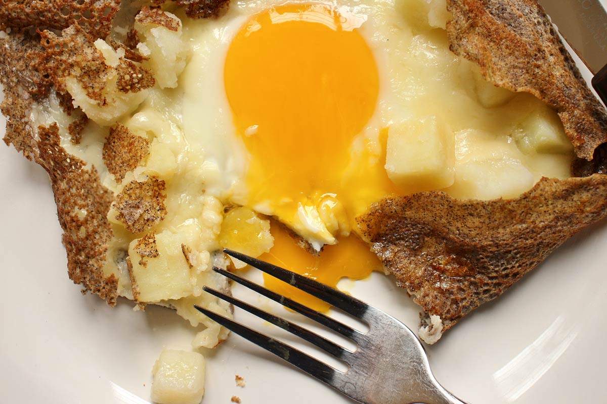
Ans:
MULTIPOLYGON (((258 257, 270 251, 274 245, 274 237, 270 234, 270 221, 260 219, 249 208, 234 208, 223 218, 219 243, 230 250, 258 257)), ((232 259, 232 261, 236 268, 246 265, 236 259, 232 259)))

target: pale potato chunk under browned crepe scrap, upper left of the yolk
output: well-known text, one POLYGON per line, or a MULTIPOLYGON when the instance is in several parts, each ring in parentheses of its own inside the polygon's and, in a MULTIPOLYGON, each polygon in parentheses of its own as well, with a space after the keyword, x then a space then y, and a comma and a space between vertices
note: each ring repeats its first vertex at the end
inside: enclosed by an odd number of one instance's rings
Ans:
POLYGON ((177 78, 186 66, 186 47, 181 40, 181 21, 177 16, 164 12, 179 23, 177 31, 169 30, 150 22, 135 21, 135 29, 143 41, 138 44, 142 55, 148 56, 146 67, 154 71, 154 78, 160 88, 177 87, 177 78))

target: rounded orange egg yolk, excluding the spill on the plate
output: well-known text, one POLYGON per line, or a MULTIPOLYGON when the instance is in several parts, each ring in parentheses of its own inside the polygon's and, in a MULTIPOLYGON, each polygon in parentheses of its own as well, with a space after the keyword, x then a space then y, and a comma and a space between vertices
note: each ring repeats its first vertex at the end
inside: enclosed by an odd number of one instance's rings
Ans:
POLYGON ((351 143, 378 98, 362 22, 325 5, 289 4, 254 16, 232 40, 224 81, 251 154, 249 205, 288 211, 302 197, 341 191, 351 143))

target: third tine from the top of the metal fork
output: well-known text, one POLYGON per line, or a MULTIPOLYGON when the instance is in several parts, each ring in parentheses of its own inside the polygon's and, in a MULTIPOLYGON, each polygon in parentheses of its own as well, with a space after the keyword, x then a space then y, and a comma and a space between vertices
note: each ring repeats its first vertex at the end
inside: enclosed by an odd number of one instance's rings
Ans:
POLYGON ((267 311, 259 310, 258 308, 249 305, 248 303, 243 302, 242 300, 236 299, 235 297, 228 296, 219 291, 209 288, 208 286, 204 286, 203 290, 206 292, 219 297, 219 299, 223 299, 226 302, 232 303, 234 306, 240 307, 251 314, 254 314, 257 317, 260 317, 267 322, 273 323, 276 326, 279 326, 282 329, 289 331, 291 334, 294 334, 301 339, 304 339, 316 346, 320 349, 324 349, 331 355, 341 358, 344 354, 351 353, 342 346, 337 345, 336 343, 326 339, 325 337, 321 337, 316 333, 311 332, 308 329, 305 329, 297 324, 294 324, 288 320, 281 319, 278 316, 274 316, 274 314, 270 314, 267 311))

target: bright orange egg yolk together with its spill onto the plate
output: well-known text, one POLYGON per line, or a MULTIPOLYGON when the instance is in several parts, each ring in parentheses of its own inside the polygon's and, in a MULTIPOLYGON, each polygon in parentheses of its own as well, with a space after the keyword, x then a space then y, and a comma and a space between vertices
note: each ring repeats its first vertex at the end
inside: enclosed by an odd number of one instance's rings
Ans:
MULTIPOLYGON (((358 31, 364 22, 365 16, 327 5, 287 4, 253 16, 232 40, 225 90, 251 156, 249 207, 270 207, 273 216, 291 225, 298 207, 318 206, 329 196, 345 215, 333 234, 347 234, 355 216, 396 191, 384 170, 385 144, 382 149, 379 140, 367 140, 353 151, 379 93, 375 59, 358 31)), ((273 225, 272 233, 274 247, 262 259, 331 286, 341 277, 359 279, 381 268, 354 235, 337 236, 336 245, 315 257, 279 226, 273 225)), ((265 282, 325 308, 276 279, 265 282)))

